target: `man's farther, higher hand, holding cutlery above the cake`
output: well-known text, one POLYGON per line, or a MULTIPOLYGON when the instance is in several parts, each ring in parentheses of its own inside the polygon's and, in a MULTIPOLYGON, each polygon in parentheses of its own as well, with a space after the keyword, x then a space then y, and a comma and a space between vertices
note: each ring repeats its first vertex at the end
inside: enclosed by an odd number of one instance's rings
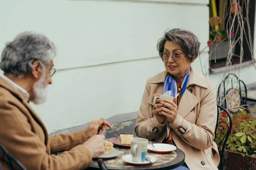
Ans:
POLYGON ((111 127, 111 125, 106 122, 103 118, 99 120, 93 120, 90 122, 90 125, 85 129, 85 133, 87 135, 87 139, 99 133, 99 130, 102 129, 103 133, 106 132, 106 126, 111 127))

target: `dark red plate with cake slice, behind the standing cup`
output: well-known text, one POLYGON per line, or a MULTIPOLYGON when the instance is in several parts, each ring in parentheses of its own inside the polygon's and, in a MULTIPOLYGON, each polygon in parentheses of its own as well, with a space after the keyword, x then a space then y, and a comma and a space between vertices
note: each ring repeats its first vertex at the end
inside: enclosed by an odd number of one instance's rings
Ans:
POLYGON ((121 133, 120 138, 113 137, 113 138, 109 139, 109 141, 118 146, 130 147, 131 139, 134 139, 134 138, 136 138, 136 137, 134 137, 132 133, 121 133))

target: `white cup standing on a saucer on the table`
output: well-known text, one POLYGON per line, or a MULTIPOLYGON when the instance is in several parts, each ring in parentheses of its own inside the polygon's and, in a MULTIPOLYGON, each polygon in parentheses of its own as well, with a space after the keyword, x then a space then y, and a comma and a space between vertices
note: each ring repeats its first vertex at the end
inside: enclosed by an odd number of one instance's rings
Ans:
POLYGON ((134 162, 144 162, 148 153, 148 139, 131 139, 131 157, 134 162))

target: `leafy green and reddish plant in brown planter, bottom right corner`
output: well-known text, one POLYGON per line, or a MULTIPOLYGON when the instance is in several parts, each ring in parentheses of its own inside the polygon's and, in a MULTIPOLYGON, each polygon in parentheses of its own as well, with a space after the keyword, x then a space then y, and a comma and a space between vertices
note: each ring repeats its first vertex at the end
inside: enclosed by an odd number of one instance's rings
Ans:
MULTIPOLYGON (((251 170, 256 169, 256 118, 251 116, 247 108, 240 108, 240 113, 231 114, 232 130, 227 140, 227 152, 224 157, 224 169, 251 170)), ((255 112, 253 108, 250 111, 255 112)), ((225 112, 219 115, 219 122, 227 122, 225 112)), ((223 123, 224 127, 227 127, 223 123)), ((222 141, 227 130, 217 130, 216 143, 222 141)))

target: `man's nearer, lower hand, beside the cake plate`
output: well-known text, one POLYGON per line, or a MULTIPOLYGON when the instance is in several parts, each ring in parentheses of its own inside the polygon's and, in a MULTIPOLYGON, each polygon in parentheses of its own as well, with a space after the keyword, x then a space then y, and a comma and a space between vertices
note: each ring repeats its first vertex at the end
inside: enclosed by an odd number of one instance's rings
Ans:
POLYGON ((104 154, 105 136, 94 135, 83 143, 88 150, 90 150, 92 158, 96 158, 104 154))

